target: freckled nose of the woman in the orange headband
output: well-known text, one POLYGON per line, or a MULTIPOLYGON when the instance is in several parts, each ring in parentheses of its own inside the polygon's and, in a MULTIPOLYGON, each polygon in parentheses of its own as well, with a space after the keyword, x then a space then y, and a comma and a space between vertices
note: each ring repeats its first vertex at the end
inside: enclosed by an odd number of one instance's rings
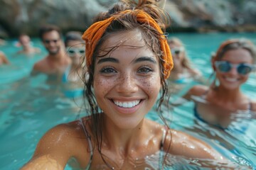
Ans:
POLYGON ((132 94, 138 90, 137 79, 132 73, 124 73, 119 77, 117 91, 122 94, 132 94))

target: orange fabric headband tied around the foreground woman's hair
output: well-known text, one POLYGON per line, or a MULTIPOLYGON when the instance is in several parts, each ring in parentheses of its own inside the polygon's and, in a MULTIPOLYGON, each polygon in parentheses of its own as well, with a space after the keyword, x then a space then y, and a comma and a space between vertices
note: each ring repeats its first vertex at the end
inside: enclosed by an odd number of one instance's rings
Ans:
MULTIPOLYGON (((161 38, 159 38, 159 43, 161 47, 161 51, 163 52, 163 58, 164 60, 164 78, 167 79, 171 73, 171 69, 174 67, 174 63, 171 57, 171 51, 169 48, 169 45, 167 43, 167 40, 164 36, 163 31, 161 30, 160 26, 156 21, 149 16, 148 13, 142 11, 142 10, 134 10, 139 11, 137 14, 137 21, 141 23, 148 23, 150 26, 155 28, 159 33, 161 34, 161 38)), ((89 68, 92 64, 92 54, 95 50, 95 47, 97 45, 97 42, 102 38, 102 35, 105 33, 105 30, 108 26, 110 26, 110 23, 114 21, 116 18, 121 16, 125 13, 133 13, 132 10, 126 10, 122 11, 120 13, 117 13, 113 15, 110 18, 107 18, 103 21, 98 21, 97 23, 93 23, 92 26, 90 26, 85 33, 82 35, 82 39, 85 40, 85 57, 86 57, 86 64, 89 68)))

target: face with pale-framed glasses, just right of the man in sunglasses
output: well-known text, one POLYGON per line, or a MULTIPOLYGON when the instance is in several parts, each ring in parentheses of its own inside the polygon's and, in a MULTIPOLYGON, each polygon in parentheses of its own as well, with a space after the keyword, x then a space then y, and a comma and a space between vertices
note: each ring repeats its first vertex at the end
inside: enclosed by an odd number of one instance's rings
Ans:
POLYGON ((85 45, 80 40, 69 40, 66 47, 72 64, 80 64, 80 58, 85 55, 85 45))

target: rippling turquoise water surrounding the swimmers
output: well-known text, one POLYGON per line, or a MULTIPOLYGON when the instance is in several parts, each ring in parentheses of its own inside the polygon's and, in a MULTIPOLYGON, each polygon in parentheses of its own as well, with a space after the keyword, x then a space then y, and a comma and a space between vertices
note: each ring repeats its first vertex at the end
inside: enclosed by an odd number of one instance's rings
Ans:
MULTIPOLYGON (((244 37, 256 44, 255 33, 170 33, 170 36, 181 38, 191 61, 205 77, 212 72, 210 52, 214 52, 223 40, 244 37)), ((85 115, 82 98, 67 98, 62 86, 50 81, 46 75, 30 76, 33 63, 46 55, 41 42, 33 39, 33 45, 41 47, 42 54, 27 57, 15 55, 19 49, 14 46, 14 41, 8 40, 7 45, 0 46, 11 61, 11 65, 0 67, 0 169, 23 166, 47 130, 59 123, 75 120, 78 115, 85 115)), ((185 93, 193 84, 196 82, 184 85, 178 95, 185 93)), ((242 91, 255 99, 255 86, 255 74, 252 74, 242 86, 242 91)), ((154 110, 147 117, 161 123, 154 110)), ((171 111, 166 109, 166 118, 171 121, 172 128, 205 140, 233 162, 245 165, 256 162, 255 119, 241 116, 238 122, 230 125, 230 130, 219 130, 194 118, 192 102, 171 111), (246 125, 247 130, 235 133, 241 124, 246 125)))

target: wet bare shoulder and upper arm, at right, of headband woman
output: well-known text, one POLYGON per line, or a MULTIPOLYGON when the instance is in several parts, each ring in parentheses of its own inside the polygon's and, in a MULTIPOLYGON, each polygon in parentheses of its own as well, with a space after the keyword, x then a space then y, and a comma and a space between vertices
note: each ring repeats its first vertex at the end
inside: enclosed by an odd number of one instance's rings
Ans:
POLYGON ((171 154, 193 159, 215 159, 220 161, 224 159, 221 154, 206 142, 177 130, 169 130, 164 143, 164 149, 168 148, 168 152, 171 154))

